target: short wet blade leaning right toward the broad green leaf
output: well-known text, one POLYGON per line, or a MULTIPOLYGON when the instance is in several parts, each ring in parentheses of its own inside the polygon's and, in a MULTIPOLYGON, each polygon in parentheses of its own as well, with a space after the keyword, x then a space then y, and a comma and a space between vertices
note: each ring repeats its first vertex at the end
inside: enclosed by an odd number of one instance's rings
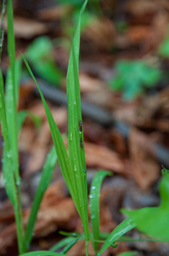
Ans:
POLYGON ((110 233, 110 236, 106 239, 104 242, 103 247, 101 247, 101 250, 98 253, 98 256, 104 253, 104 251, 110 247, 111 244, 113 244, 118 238, 126 234, 129 230, 132 230, 136 227, 136 223, 132 218, 127 218, 121 224, 119 224, 115 230, 113 230, 110 233))

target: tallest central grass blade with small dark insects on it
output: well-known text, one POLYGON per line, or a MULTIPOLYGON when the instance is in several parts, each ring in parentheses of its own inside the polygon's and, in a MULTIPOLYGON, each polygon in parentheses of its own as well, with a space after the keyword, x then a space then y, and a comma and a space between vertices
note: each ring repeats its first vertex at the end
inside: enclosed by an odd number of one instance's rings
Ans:
POLYGON ((87 241, 89 240, 88 216, 87 216, 87 172, 84 154, 84 142, 82 132, 81 97, 78 78, 78 63, 81 34, 81 15, 87 5, 87 0, 82 5, 76 33, 73 38, 70 51, 70 61, 66 78, 66 91, 68 101, 68 149, 70 170, 76 189, 76 201, 79 206, 79 214, 82 219, 83 229, 87 241))

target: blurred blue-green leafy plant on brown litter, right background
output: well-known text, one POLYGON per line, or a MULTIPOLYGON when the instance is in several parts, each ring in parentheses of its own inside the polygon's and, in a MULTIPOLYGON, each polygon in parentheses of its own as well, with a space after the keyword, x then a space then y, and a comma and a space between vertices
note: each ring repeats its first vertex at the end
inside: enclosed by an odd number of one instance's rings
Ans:
POLYGON ((115 72, 109 81, 110 89, 121 91, 127 101, 142 95, 145 88, 154 87, 161 79, 160 69, 144 61, 116 61, 115 72))

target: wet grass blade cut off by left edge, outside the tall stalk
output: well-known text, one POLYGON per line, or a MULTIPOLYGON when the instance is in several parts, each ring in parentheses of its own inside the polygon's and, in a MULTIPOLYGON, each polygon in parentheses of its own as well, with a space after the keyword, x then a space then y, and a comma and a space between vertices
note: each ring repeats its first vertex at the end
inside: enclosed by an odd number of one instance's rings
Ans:
POLYGON ((5 111, 5 100, 3 92, 3 75, 0 70, 0 121, 3 133, 3 180, 9 200, 16 207, 14 173, 12 169, 11 153, 8 142, 8 129, 5 111))

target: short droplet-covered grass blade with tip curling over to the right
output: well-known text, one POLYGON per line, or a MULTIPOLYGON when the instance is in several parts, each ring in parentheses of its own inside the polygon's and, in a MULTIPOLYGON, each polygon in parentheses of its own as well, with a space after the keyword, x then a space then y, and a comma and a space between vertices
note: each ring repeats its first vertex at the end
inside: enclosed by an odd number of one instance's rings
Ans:
POLYGON ((99 194, 101 184, 106 175, 111 176, 112 172, 100 171, 94 177, 90 189, 90 218, 93 229, 94 249, 97 251, 99 242, 99 194))

